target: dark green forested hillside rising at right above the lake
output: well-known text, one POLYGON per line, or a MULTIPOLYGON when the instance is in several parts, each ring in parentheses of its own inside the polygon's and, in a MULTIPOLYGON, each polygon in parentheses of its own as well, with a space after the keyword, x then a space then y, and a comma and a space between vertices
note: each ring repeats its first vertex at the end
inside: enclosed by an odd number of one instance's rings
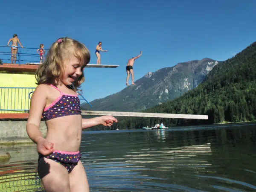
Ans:
POLYGON ((208 120, 118 118, 113 128, 142 128, 253 121, 256 116, 256 42, 216 65, 204 81, 172 101, 145 110, 150 113, 204 114, 208 120))

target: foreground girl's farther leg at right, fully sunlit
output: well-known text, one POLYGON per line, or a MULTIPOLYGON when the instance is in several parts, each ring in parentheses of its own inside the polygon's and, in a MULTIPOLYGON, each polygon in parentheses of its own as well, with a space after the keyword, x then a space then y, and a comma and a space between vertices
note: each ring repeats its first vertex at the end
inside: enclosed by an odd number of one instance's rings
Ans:
POLYGON ((89 192, 89 184, 81 161, 69 174, 70 177, 70 192, 89 192))

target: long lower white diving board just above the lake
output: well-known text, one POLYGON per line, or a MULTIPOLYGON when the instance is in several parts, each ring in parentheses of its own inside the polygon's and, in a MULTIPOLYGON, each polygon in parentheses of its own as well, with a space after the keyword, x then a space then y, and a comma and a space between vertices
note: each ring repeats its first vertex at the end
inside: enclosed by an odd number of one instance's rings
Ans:
POLYGON ((81 111, 82 115, 110 115, 110 116, 135 116, 135 117, 157 117, 176 119, 208 119, 208 115, 171 114, 171 113, 138 113, 120 111, 81 111))

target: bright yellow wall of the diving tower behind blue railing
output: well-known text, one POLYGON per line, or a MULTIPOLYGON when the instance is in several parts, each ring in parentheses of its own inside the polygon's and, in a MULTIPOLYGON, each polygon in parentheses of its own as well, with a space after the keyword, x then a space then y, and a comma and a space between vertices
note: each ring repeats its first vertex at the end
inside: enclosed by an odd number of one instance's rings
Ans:
MULTIPOLYGON (((28 87, 23 88, 1 88, 0 89, 0 113, 24 113, 24 109, 30 107, 29 93, 34 91, 35 74, 11 74, 0 73, 0 87, 28 87), (30 87, 30 88, 29 88, 30 87), (21 111, 3 111, 19 109, 21 111)), ((32 95, 32 94, 31 94, 32 95)), ((31 96, 30 95, 30 96, 31 96)))

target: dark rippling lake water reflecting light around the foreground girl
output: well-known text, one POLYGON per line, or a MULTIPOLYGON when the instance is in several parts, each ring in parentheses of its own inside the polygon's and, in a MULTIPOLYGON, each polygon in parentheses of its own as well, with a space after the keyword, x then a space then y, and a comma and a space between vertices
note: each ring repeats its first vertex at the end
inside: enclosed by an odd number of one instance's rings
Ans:
MULTIPOLYGON (((8 147, 0 191, 44 191, 35 146, 8 147)), ((85 131, 90 192, 256 191, 256 124, 85 131)))

